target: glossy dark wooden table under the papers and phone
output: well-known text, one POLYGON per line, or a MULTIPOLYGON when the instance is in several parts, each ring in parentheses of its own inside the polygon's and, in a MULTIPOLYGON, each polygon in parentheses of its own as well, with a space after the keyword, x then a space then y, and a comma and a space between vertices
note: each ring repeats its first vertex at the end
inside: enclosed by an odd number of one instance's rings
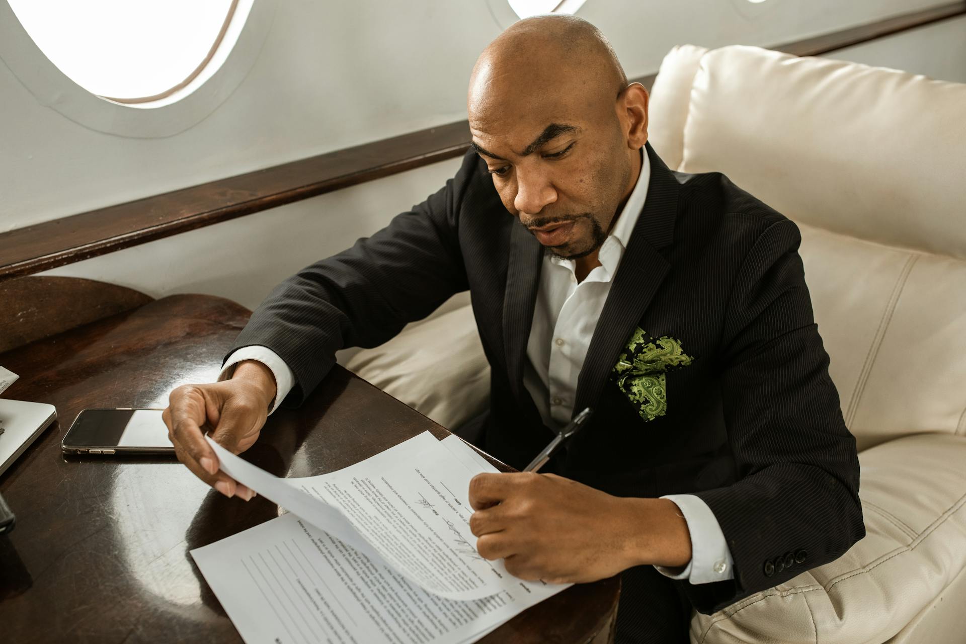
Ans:
MULTIPOLYGON (((249 311, 174 295, 18 349, 4 398, 50 403, 59 420, 0 476, 17 516, 0 537, 0 641, 240 642, 188 550, 278 515, 256 497, 228 499, 163 458, 65 457, 60 441, 90 406, 163 407, 186 382, 216 378, 249 311)), ((309 476, 445 429, 337 367, 297 410, 270 416, 245 458, 309 476)), ((567 589, 485 642, 608 641, 615 578, 567 589)))

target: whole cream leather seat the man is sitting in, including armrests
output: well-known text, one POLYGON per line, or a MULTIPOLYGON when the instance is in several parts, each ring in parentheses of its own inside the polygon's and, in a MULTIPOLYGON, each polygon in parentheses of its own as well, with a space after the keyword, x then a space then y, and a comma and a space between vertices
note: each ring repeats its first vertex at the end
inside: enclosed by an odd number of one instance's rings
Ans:
MULTIPOLYGON (((696 614, 692 641, 966 641, 966 85, 685 45, 665 59, 650 115, 671 169, 723 172, 798 223, 862 462, 866 538, 696 614)), ((446 427, 485 406, 469 307, 348 366, 446 427)))

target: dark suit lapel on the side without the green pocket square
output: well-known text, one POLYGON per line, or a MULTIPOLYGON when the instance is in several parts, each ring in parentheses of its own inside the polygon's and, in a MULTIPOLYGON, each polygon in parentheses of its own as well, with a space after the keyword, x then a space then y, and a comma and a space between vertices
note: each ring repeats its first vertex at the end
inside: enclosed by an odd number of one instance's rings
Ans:
POLYGON ((543 246, 525 227, 514 224, 510 231, 510 259, 503 294, 503 342, 510 387, 522 402, 530 401, 524 390, 524 360, 542 262, 543 246))

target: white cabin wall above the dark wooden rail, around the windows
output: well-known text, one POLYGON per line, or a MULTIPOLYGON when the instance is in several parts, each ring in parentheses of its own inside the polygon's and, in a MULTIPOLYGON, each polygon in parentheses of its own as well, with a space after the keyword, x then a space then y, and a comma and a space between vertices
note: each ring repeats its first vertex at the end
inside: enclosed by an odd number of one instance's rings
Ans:
MULTIPOLYGON (((79 126, 0 67, 0 231, 466 118, 469 70, 501 28, 493 0, 274 1, 241 86, 166 138, 79 126)), ((590 0, 579 15, 601 27, 633 76, 656 70, 680 42, 775 44, 938 4, 590 0)))

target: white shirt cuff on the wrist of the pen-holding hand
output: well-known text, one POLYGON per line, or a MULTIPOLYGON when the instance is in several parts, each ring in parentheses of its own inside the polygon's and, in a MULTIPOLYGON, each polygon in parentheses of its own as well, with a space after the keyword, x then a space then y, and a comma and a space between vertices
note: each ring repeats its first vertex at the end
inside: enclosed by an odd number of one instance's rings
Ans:
POLYGON ((681 510, 691 535, 691 561, 681 572, 655 566, 658 573, 671 579, 687 579, 691 583, 710 583, 733 579, 731 550, 727 546, 721 524, 708 504, 694 494, 668 494, 667 498, 681 510))

